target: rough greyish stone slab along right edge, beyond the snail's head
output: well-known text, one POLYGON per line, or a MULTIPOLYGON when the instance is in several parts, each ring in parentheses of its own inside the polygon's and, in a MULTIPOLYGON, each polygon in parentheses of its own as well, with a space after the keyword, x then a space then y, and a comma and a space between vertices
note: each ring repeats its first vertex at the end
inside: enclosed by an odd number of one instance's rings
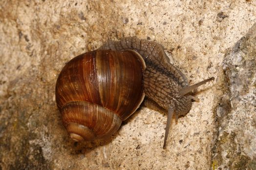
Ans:
POLYGON ((213 163, 222 170, 256 169, 256 24, 224 57, 227 91, 216 113, 213 163))

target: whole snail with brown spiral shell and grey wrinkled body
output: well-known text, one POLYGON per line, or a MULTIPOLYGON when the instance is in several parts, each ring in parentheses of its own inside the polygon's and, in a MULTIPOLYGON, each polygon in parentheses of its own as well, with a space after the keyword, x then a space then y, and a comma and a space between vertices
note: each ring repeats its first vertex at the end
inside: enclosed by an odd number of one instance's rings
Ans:
POLYGON ((190 92, 211 80, 189 85, 160 44, 125 37, 70 60, 57 79, 56 102, 70 137, 90 141, 115 133, 146 95, 168 110, 165 149, 173 114, 185 116, 199 100, 190 92))

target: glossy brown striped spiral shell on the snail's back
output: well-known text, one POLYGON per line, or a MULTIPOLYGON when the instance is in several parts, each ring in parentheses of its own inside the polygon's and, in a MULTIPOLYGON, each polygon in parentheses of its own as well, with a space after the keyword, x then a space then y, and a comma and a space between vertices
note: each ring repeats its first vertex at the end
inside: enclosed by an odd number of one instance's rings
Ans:
POLYGON ((144 99, 144 60, 135 51, 97 50, 62 69, 56 102, 75 141, 111 136, 144 99))

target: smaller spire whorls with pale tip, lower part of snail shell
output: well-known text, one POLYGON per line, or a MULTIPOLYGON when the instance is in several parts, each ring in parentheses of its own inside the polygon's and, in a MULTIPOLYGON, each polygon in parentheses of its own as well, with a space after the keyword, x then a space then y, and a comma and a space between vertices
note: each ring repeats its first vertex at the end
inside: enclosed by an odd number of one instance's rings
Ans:
POLYGON ((89 102, 68 102, 61 112, 67 132, 77 141, 111 136, 122 123, 114 112, 89 102))

